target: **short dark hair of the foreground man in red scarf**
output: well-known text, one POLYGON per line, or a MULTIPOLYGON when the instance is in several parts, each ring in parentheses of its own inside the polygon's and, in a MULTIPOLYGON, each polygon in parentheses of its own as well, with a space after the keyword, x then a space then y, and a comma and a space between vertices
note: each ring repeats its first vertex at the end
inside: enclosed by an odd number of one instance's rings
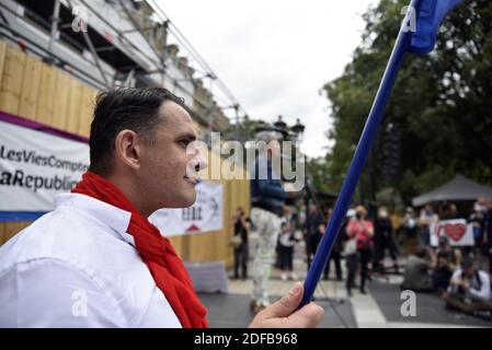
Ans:
POLYGON ((164 121, 159 108, 165 101, 184 106, 184 100, 163 88, 118 88, 105 91, 95 98, 91 124, 89 170, 100 175, 112 168, 115 139, 119 131, 128 129, 152 141, 156 127, 164 121))

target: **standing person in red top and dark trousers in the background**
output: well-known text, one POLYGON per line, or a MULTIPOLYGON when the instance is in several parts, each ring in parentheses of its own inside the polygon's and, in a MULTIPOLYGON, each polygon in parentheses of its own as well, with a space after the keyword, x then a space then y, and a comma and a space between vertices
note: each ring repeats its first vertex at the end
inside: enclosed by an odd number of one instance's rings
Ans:
MULTIPOLYGON (((366 280, 368 276, 368 265, 373 250, 374 225, 366 220, 367 210, 363 206, 355 208, 355 218, 348 221, 346 234, 350 240, 356 241, 356 252, 361 261, 361 293, 366 294, 366 280)), ((346 289, 348 296, 352 295, 352 287, 355 279, 354 269, 348 269, 346 289)))

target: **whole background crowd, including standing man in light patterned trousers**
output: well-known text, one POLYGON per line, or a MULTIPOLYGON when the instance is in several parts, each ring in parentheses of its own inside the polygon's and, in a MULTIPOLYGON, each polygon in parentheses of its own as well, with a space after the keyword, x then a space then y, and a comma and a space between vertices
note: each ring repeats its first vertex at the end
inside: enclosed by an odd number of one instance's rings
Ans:
MULTIPOLYGON (((279 140, 275 131, 263 131, 258 137, 265 144, 279 140)), ((297 280, 294 269, 297 244, 305 245, 309 269, 332 215, 331 209, 322 212, 316 198, 309 198, 311 205, 308 198, 302 206, 293 205, 299 202, 296 200, 298 194, 286 191, 281 177, 274 176, 277 174, 272 160, 281 150, 278 143, 272 143, 274 147, 260 150, 251 170, 253 174, 267 174, 266 178, 253 177, 251 180, 251 220, 244 218, 240 208, 233 218, 234 278, 239 278, 239 267, 242 279, 248 278, 248 249, 254 252, 251 270, 251 310, 254 313, 270 304, 273 266, 282 270, 283 280, 297 280), (248 243, 251 228, 258 236, 253 247, 248 243)), ((492 201, 478 199, 471 213, 466 213, 465 206, 458 210, 455 203, 439 202, 438 209, 426 205, 417 214, 414 208, 408 207, 401 217, 386 207, 370 206, 369 211, 361 205, 351 208, 324 268, 323 279, 329 279, 333 261, 335 279, 342 281, 345 278, 347 295, 352 296, 354 288, 366 294, 367 281, 375 275, 386 276, 389 269, 393 273, 403 271, 403 289, 436 292, 449 307, 464 312, 483 311, 490 315, 492 201), (447 233, 433 232, 442 220, 451 219, 466 219, 472 226, 473 238, 466 245, 451 244, 447 233), (387 254, 390 264, 386 264, 387 254), (489 259, 488 272, 481 266, 485 257, 489 259), (346 267, 345 277, 342 260, 346 267)))

